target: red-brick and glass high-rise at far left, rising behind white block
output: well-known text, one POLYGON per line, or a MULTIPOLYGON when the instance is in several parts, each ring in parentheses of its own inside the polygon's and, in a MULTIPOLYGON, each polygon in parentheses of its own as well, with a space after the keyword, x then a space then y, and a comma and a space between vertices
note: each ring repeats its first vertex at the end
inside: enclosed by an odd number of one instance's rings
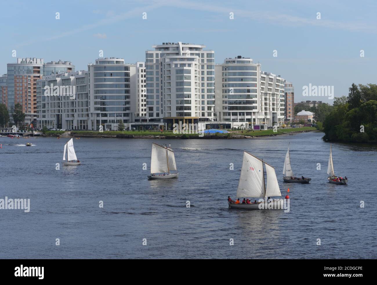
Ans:
POLYGON ((17 58, 17 63, 7 64, 8 109, 14 111, 14 105, 20 103, 26 114, 25 124, 29 125, 37 118, 37 80, 43 75, 74 71, 70 61, 52 61, 44 63, 43 58, 17 58))

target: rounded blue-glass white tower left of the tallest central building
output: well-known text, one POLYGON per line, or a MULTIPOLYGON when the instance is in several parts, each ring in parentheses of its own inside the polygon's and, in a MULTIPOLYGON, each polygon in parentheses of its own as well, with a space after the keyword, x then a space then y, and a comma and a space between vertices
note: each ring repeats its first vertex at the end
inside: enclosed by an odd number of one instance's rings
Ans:
POLYGON ((123 58, 99 58, 88 65, 91 128, 116 130, 118 123, 130 123, 131 95, 136 96, 136 65, 123 58))

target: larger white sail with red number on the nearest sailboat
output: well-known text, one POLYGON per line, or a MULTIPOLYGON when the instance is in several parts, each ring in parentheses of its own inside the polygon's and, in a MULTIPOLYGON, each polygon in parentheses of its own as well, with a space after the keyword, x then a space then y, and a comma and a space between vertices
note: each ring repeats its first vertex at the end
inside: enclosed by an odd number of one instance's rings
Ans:
POLYGON ((236 198, 264 197, 263 179, 263 163, 261 159, 244 152, 236 198))

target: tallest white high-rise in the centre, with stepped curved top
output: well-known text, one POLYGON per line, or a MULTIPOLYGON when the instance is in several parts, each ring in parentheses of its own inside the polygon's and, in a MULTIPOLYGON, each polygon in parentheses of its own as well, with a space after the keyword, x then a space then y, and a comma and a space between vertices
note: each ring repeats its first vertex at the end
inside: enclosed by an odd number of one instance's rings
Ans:
POLYGON ((146 115, 170 124, 214 121, 215 52, 204 45, 162 43, 146 51, 146 115))

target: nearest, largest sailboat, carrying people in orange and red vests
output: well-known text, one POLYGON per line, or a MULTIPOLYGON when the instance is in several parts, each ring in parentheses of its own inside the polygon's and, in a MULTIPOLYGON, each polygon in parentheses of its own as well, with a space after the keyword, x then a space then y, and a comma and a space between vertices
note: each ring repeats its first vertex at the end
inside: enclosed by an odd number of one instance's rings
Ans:
POLYGON ((282 199, 273 199, 267 201, 268 196, 281 196, 279 184, 277 183, 276 173, 274 167, 264 162, 267 173, 267 188, 264 182, 263 160, 244 151, 244 158, 242 161, 241 175, 239 177, 236 198, 264 198, 264 202, 257 202, 255 204, 233 204, 228 201, 229 208, 236 209, 268 209, 269 204, 272 208, 279 207, 282 199), (273 204, 272 204, 273 203, 273 204), (264 204, 264 205, 261 205, 264 204), (280 204, 278 206, 278 204, 280 204))

